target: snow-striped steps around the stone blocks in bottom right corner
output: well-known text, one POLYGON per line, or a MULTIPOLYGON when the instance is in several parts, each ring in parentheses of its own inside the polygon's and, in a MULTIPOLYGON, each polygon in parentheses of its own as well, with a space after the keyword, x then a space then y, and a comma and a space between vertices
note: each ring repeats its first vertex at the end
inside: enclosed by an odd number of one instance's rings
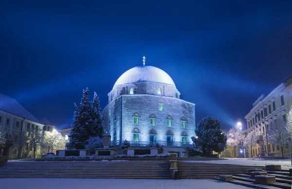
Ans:
MULTIPOLYGON (((248 173, 235 174, 233 175, 233 181, 228 181, 238 185, 245 185, 248 187, 258 188, 258 189, 291 189, 292 188, 292 176, 289 176, 289 170, 277 170, 269 171, 263 170, 268 173, 268 176, 275 176, 276 183, 271 183, 269 185, 255 184, 255 179, 251 178, 248 173)), ((218 179, 218 178, 217 178, 218 179)))

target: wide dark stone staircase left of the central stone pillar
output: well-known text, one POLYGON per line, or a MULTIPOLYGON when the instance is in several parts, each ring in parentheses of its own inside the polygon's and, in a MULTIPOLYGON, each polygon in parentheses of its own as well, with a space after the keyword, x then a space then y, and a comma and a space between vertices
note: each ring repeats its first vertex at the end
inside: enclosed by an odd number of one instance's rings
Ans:
POLYGON ((169 161, 7 162, 0 178, 169 179, 169 161))

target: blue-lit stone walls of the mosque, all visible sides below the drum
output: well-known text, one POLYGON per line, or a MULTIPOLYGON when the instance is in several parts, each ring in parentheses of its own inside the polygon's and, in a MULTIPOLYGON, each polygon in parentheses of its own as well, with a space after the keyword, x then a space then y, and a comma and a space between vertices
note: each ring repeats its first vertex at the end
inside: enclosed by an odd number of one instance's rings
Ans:
POLYGON ((165 97, 159 95, 122 95, 111 101, 102 111, 106 129, 110 130, 111 141, 116 140, 133 141, 132 130, 140 130, 139 141, 149 141, 149 131, 156 130, 156 140, 166 141, 166 132, 171 130, 173 142, 182 142, 182 132, 187 132, 186 142, 192 142, 191 136, 195 136, 195 105, 179 98, 165 97), (159 111, 159 100, 164 101, 164 111, 159 111), (109 110, 111 113, 109 115, 109 110), (121 112, 122 111, 122 112, 121 112), (122 117, 121 117, 122 113, 122 117), (133 113, 139 113, 139 124, 134 124, 133 113), (149 115, 156 115, 155 126, 150 125, 149 115), (172 127, 167 127, 166 117, 172 116, 172 127), (116 117, 116 127, 114 128, 114 118, 116 117), (181 126, 181 118, 185 117, 186 128, 181 126), (122 119, 121 119, 122 118, 122 119), (122 124, 121 124, 122 123, 122 124), (122 126, 122 128, 121 128, 122 126), (122 131, 122 138, 120 137, 122 131))

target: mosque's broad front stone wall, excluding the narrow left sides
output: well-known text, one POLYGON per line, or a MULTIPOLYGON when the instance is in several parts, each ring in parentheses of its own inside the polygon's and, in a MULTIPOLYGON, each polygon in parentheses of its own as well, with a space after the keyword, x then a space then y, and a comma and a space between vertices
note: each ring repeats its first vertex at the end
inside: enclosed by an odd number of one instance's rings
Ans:
POLYGON ((123 96, 123 130, 122 140, 133 140, 134 128, 140 130, 139 141, 149 141, 149 131, 157 131, 156 140, 166 141, 166 132, 171 130, 174 142, 182 142, 181 133, 188 133, 186 142, 192 142, 195 136, 195 106, 178 98, 156 95, 126 95, 123 96), (164 111, 159 111, 159 100, 164 101, 164 111), (134 125, 133 113, 139 113, 139 125, 134 125), (149 115, 156 115, 155 126, 150 125, 149 115), (172 127, 167 127, 166 117, 172 116, 172 127), (181 127, 181 118, 185 117, 186 128, 181 127))

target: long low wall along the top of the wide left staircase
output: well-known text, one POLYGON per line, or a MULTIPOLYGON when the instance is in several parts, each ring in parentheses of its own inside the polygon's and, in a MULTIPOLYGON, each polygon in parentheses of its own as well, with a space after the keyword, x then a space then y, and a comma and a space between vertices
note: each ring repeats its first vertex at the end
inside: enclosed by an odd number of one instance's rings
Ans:
POLYGON ((107 159, 100 159, 100 158, 84 158, 84 159, 36 159, 35 161, 117 161, 117 160, 126 160, 126 161, 169 161, 169 158, 107 158, 107 159))

